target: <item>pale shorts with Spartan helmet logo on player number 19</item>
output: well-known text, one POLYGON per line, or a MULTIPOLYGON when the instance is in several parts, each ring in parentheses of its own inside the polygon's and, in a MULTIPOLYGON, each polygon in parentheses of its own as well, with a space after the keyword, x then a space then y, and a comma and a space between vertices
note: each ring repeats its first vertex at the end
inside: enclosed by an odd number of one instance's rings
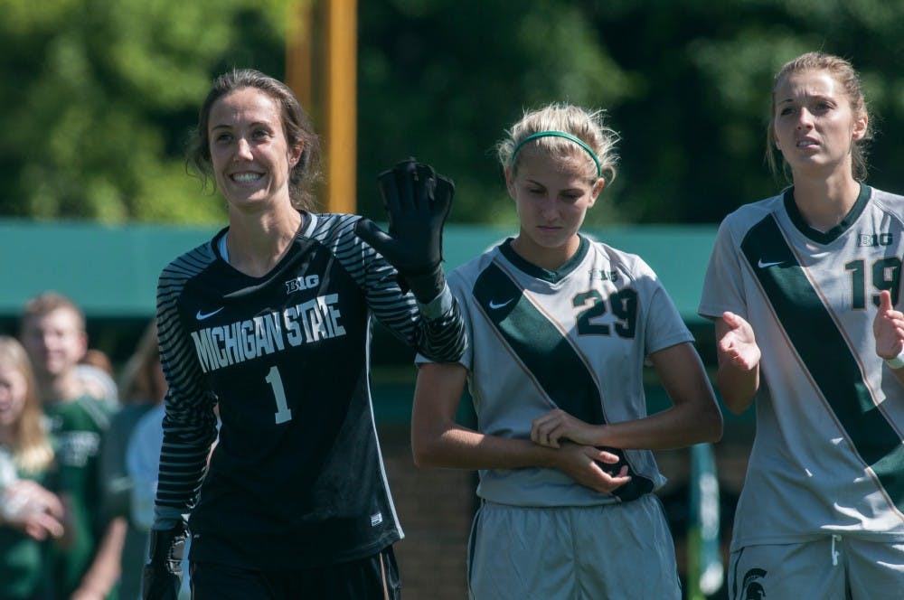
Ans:
POLYGON ((731 553, 729 597, 880 600, 904 597, 904 544, 827 535, 731 553))

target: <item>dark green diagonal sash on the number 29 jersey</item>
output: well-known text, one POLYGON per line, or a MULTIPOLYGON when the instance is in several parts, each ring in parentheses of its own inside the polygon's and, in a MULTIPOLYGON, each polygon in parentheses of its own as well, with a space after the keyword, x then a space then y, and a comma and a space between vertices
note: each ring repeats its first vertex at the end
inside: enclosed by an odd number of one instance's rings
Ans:
MULTIPOLYGON (((606 423, 597 383, 569 340, 562 335, 536 306, 523 296, 520 286, 495 264, 477 277, 474 296, 527 375, 551 398, 556 407, 595 425, 606 423)), ((607 464, 617 472, 625 462, 625 453, 604 448, 618 455, 618 464, 607 464)), ((635 500, 653 491, 653 481, 638 475, 628 464, 631 481, 613 494, 623 501, 635 500)))

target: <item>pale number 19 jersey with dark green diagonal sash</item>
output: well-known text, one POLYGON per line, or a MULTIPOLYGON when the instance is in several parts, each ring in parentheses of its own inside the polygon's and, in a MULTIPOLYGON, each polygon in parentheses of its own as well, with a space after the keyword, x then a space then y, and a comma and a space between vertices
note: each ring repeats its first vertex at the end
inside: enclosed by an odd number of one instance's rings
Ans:
POLYGON ((762 351, 757 435, 732 549, 826 534, 904 539, 904 388, 875 352, 880 290, 900 310, 904 197, 862 186, 832 230, 792 189, 721 224, 700 314, 740 314, 762 351))

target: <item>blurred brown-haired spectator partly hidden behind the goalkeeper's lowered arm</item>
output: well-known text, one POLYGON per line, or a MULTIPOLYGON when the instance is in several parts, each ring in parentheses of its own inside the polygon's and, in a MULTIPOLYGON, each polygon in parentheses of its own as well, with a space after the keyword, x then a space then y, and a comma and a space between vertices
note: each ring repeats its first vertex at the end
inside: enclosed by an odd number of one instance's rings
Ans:
MULTIPOLYGON (((141 595, 141 570, 145 563, 147 528, 136 527, 131 513, 132 478, 127 473, 126 452, 137 423, 148 410, 163 401, 166 380, 160 366, 156 322, 152 321, 127 361, 119 389, 121 408, 113 416, 100 452, 100 481, 103 512, 109 520, 127 523, 126 539, 120 558, 120 600, 136 600, 141 595)), ((157 440, 155 460, 159 459, 157 440)), ((153 498, 152 498, 153 502, 153 498)), ((153 508, 153 506, 152 506, 153 508)))

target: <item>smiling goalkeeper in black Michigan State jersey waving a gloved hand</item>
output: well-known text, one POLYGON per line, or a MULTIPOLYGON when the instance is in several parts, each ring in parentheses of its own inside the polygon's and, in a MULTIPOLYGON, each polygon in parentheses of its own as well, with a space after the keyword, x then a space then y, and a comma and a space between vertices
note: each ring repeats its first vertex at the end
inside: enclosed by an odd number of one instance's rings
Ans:
POLYGON ((453 186, 413 160, 382 173, 385 233, 313 210, 317 156, 287 86, 255 70, 214 82, 189 163, 229 226, 159 280, 169 392, 146 598, 175 597, 189 535, 195 598, 400 596, 371 321, 433 360, 460 357, 440 266, 453 186))

